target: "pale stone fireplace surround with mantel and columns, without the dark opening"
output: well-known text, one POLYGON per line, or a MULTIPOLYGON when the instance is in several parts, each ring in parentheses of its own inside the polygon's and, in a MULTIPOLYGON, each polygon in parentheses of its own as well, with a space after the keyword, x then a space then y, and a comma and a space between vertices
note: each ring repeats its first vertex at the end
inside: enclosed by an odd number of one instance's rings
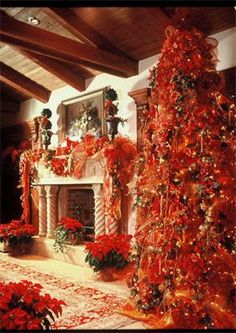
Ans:
POLYGON ((103 198, 103 168, 102 164, 92 158, 86 161, 83 176, 63 177, 56 176, 50 169, 40 168, 38 165, 39 178, 33 184, 39 193, 39 236, 54 238, 55 228, 60 219, 60 212, 65 206, 65 196, 61 196, 65 189, 90 188, 94 193, 95 202, 95 236, 106 233, 103 198), (62 199, 60 199, 60 197, 62 199))

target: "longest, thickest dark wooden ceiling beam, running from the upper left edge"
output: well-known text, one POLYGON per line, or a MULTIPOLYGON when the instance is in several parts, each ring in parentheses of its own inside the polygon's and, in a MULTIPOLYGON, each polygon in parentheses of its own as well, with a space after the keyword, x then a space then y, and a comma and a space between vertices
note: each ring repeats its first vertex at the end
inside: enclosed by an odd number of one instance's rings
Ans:
MULTIPOLYGON (((29 24, 15 20, 0 12, 2 41, 10 37, 12 42, 23 44, 22 48, 31 48, 32 52, 48 55, 62 61, 80 64, 81 61, 88 67, 93 64, 103 68, 103 72, 109 69, 127 76, 138 73, 138 62, 129 58, 118 56, 97 48, 83 45, 72 39, 58 34, 30 26, 29 24)), ((8 39, 9 40, 9 39, 8 39)), ((17 46, 17 45, 15 45, 17 46)), ((19 46, 19 45, 18 45, 19 46)), ((28 49, 29 50, 29 49, 28 49)), ((119 74, 118 74, 119 75, 119 74)))

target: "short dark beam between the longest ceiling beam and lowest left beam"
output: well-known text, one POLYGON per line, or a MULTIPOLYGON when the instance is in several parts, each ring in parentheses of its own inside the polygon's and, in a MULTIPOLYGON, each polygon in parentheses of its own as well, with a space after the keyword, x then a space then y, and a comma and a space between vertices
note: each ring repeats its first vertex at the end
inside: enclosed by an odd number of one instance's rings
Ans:
POLYGON ((85 90, 85 79, 80 77, 78 73, 73 71, 73 69, 65 63, 33 52, 24 51, 19 48, 16 48, 16 51, 34 61, 37 65, 43 67, 76 90, 85 90))

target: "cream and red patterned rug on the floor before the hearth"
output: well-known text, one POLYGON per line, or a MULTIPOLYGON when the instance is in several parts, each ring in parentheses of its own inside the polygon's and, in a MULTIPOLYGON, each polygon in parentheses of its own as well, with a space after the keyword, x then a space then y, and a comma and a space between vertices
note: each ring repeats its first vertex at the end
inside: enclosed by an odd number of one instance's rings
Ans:
POLYGON ((30 280, 40 283, 43 286, 42 293, 49 293, 67 303, 67 306, 63 306, 62 317, 56 321, 53 329, 117 329, 134 321, 114 312, 125 301, 124 297, 116 295, 118 291, 108 288, 109 293, 106 293, 101 290, 101 284, 99 288, 94 288, 94 281, 91 282, 93 287, 89 287, 89 282, 65 280, 36 268, 11 262, 8 258, 0 257, 0 263, 0 277, 3 281, 30 280))

